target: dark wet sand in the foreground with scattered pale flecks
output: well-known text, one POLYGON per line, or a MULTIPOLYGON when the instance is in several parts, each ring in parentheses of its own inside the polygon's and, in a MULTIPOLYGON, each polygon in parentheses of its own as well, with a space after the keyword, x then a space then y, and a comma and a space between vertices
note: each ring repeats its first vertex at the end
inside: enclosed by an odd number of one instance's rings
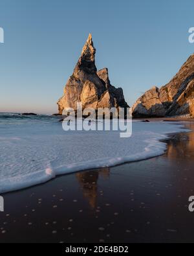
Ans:
POLYGON ((0 242, 193 242, 193 131, 171 135, 163 156, 5 194, 0 242))

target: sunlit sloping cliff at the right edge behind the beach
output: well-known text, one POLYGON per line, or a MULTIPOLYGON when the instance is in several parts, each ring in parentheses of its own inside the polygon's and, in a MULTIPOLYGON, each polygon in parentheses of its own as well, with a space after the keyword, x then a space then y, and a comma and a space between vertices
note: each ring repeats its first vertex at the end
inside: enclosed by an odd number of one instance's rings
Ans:
POLYGON ((166 86, 146 91, 135 102, 132 111, 133 117, 194 117, 194 54, 166 86))

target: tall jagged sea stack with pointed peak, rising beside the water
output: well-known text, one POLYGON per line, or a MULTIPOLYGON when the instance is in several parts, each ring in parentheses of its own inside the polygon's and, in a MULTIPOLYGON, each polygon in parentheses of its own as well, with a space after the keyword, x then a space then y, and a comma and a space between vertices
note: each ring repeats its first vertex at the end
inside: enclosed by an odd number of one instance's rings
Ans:
POLYGON ((76 110, 77 102, 81 102, 83 108, 112 108, 124 107, 125 102, 122 88, 116 89, 109 81, 108 69, 97 72, 95 65, 95 53, 92 36, 89 34, 81 56, 74 68, 64 89, 64 95, 58 101, 59 114, 64 108, 76 110))

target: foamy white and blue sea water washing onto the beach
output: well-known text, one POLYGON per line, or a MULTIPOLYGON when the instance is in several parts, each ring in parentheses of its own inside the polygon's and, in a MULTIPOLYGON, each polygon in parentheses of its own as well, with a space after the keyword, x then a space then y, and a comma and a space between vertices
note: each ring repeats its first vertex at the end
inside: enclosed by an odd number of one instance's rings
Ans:
POLYGON ((160 140, 186 132, 175 122, 133 122, 133 134, 119 131, 65 132, 59 117, 0 113, 0 193, 51 180, 60 174, 159 156, 160 140))

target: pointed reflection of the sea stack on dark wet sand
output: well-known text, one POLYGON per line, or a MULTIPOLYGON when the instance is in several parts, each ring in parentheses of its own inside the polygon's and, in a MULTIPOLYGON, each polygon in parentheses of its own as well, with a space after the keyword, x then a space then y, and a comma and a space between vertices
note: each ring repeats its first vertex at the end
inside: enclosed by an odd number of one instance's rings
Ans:
POLYGON ((102 178, 108 179, 109 172, 109 168, 104 168, 76 173, 76 178, 78 179, 83 190, 83 196, 89 200, 89 205, 91 205, 92 209, 94 209, 97 204, 98 178, 99 176, 102 176, 102 178))

